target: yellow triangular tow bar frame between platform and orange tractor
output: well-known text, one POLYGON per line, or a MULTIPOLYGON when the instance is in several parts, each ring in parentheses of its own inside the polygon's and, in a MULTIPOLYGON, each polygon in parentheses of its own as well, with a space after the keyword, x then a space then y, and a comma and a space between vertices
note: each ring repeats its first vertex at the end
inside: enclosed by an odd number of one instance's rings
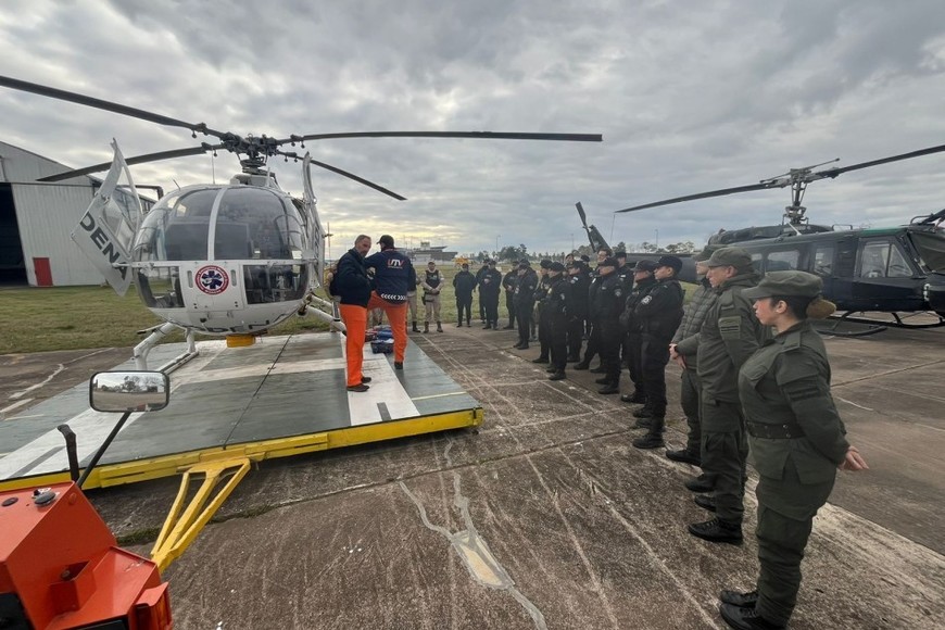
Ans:
POLYGON ((189 468, 184 472, 180 480, 180 490, 171 507, 171 513, 164 520, 161 533, 151 550, 151 559, 163 571, 184 551, 190 546, 200 530, 210 521, 230 492, 250 470, 250 461, 247 457, 234 457, 217 462, 205 462, 189 468), (187 496, 190 493, 190 479, 193 475, 203 475, 203 481, 187 508, 184 508, 187 496), (213 495, 217 483, 226 477, 229 479, 213 495), (213 497, 211 499, 211 496, 213 497), (181 514, 181 509, 184 511, 181 514))

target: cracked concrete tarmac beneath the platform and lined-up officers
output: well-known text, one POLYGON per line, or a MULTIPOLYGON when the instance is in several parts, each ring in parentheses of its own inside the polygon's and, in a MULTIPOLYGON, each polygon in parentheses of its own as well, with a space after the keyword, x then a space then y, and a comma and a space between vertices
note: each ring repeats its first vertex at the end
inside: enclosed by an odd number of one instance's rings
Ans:
MULTIPOLYGON (((943 335, 827 341, 871 469, 840 474, 818 515, 791 628, 945 627, 943 335)), ((633 449, 632 407, 597 394, 596 375, 547 381, 512 331, 412 338, 482 404, 482 427, 264 463, 165 572, 176 627, 724 627, 718 591, 757 575, 752 491, 743 546, 694 539, 686 524, 710 516, 682 486, 697 469, 633 449)), ((98 356, 56 356, 66 367, 29 395, 87 378, 98 356)), ((28 361, 0 357, 0 408, 28 361)), ((667 382, 677 448, 673 366, 667 382)), ((118 536, 147 539, 176 491, 161 480, 90 495, 118 536)))

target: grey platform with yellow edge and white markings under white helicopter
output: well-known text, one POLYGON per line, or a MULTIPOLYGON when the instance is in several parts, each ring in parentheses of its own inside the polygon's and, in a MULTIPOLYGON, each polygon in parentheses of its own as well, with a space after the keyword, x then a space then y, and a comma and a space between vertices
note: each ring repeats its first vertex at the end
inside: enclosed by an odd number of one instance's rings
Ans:
MULTIPOLYGON (((154 349, 162 365, 184 344, 154 349)), ((189 466, 242 456, 251 461, 432 431, 477 426, 479 403, 413 342, 403 370, 365 345, 370 390, 345 391, 344 337, 332 332, 264 337, 248 348, 198 343, 200 355, 171 374, 171 404, 134 414, 86 487, 176 475, 189 466)), ((115 369, 134 369, 134 363, 115 369)), ((80 466, 118 419, 88 406, 81 385, 0 423, 0 489, 68 478, 66 423, 78 437, 80 466)))

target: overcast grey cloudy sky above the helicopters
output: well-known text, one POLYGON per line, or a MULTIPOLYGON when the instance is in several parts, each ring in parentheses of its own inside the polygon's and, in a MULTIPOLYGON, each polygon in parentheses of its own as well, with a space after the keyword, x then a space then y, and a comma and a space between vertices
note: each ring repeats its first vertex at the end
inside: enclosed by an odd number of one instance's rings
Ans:
MULTIPOLYGON (((786 189, 613 211, 945 143, 941 0, 3 0, 0 74, 245 135, 603 134, 603 143, 338 139, 313 158, 332 253, 358 232, 461 252, 525 243, 702 243, 777 224, 786 189), (657 236, 658 235, 658 236, 657 236)), ((190 134, 0 88, 0 139, 81 167, 190 134)), ((301 194, 300 166, 270 161, 301 194)), ((230 154, 133 167, 165 189, 228 179, 230 154)), ((945 207, 945 153, 814 182, 815 223, 945 207)), ((70 228, 72 226, 68 226, 70 228)))

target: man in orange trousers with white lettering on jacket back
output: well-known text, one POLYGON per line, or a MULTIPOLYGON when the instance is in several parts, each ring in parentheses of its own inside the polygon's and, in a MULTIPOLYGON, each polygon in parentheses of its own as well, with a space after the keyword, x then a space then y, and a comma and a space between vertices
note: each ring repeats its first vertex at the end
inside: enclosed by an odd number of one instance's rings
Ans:
POLYGON ((364 260, 366 267, 374 267, 375 290, 367 303, 368 308, 383 308, 394 338, 394 369, 404 368, 404 351, 407 349, 407 291, 413 264, 393 247, 393 237, 383 235, 377 239, 380 251, 364 260))

